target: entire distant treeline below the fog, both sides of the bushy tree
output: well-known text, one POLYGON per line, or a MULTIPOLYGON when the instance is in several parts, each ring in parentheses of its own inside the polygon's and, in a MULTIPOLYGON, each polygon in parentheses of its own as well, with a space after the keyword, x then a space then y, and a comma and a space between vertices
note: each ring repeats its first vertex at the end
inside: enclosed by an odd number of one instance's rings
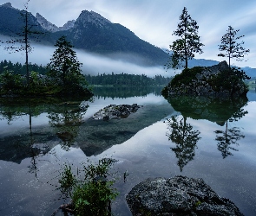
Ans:
MULTIPOLYGON (((12 71, 16 74, 26 74, 26 67, 21 63, 12 63, 10 60, 2 60, 0 62, 0 73, 4 70, 12 71)), ((35 71, 40 74, 47 73, 47 67, 38 66, 36 64, 29 63, 29 70, 35 71)), ((121 74, 97 74, 96 76, 86 74, 85 79, 88 81, 89 85, 112 85, 112 86, 166 86, 172 78, 164 77, 161 75, 155 75, 153 78, 148 77, 145 74, 135 75, 128 73, 121 74)))

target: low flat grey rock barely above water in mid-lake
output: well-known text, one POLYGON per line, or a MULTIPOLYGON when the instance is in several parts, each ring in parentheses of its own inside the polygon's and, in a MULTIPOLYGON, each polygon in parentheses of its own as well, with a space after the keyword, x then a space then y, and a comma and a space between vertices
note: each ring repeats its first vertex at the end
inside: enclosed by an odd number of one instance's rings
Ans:
POLYGON ((136 112, 141 105, 108 105, 97 111, 92 119, 108 121, 112 118, 128 118, 132 112, 136 112))

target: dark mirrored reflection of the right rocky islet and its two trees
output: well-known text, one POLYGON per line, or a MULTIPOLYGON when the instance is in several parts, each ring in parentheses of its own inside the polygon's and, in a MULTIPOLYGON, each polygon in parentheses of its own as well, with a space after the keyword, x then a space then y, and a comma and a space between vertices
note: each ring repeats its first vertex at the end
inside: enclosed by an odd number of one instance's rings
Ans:
POLYGON ((225 130, 215 130, 218 141, 217 148, 223 158, 232 156, 231 150, 238 151, 234 145, 238 146, 238 141, 245 136, 240 132, 240 128, 228 128, 228 124, 243 118, 248 112, 243 109, 247 98, 207 98, 193 96, 175 96, 167 98, 175 111, 180 111, 183 117, 181 121, 177 118, 167 120, 167 133, 169 140, 176 143, 176 148, 172 148, 178 158, 178 165, 182 168, 194 158, 194 149, 200 139, 200 131, 193 131, 193 127, 187 124, 187 118, 195 120, 207 119, 213 123, 226 126, 225 130), (183 120, 183 122, 182 122, 183 120))

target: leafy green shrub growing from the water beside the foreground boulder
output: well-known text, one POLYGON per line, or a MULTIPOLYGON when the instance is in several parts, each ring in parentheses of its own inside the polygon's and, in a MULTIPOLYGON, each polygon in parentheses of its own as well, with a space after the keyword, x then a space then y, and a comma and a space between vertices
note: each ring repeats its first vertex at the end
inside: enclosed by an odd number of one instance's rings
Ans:
POLYGON ((97 165, 83 164, 83 169, 77 170, 80 175, 82 173, 82 180, 72 173, 70 166, 65 165, 58 189, 72 200, 75 215, 111 215, 111 200, 118 195, 112 187, 115 181, 108 180, 112 163, 111 159, 102 159, 97 165))

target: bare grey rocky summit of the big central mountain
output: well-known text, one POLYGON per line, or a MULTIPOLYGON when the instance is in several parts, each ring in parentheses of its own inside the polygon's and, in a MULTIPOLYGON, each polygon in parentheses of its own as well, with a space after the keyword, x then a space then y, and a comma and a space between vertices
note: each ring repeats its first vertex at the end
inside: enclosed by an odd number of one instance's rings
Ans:
POLYGON ((83 27, 86 27, 87 23, 94 23, 96 26, 100 27, 104 27, 107 23, 111 23, 100 14, 88 10, 82 10, 82 13, 77 18, 76 22, 82 23, 83 27))

